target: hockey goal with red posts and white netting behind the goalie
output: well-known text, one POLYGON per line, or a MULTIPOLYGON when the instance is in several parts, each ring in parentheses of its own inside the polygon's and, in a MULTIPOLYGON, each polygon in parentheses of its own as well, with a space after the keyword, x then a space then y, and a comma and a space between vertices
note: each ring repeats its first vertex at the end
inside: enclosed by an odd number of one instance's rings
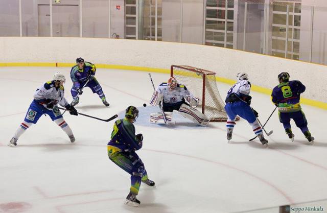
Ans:
POLYGON ((194 97, 200 99, 198 107, 211 118, 211 122, 227 121, 225 102, 220 97, 215 72, 193 66, 171 65, 170 75, 179 84, 185 85, 194 97))

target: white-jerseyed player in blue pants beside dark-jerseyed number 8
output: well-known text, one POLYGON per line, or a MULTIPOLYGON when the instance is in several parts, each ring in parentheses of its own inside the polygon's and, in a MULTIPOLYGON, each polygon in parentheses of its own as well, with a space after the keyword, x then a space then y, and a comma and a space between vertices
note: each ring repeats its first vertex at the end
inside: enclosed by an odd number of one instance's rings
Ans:
POLYGON ((232 136, 236 116, 239 115, 252 126, 254 134, 258 135, 261 143, 266 147, 268 140, 264 138, 262 128, 256 120, 258 112, 250 107, 252 97, 249 96, 251 83, 246 73, 237 74, 237 82, 227 92, 225 110, 227 112, 227 140, 232 136))

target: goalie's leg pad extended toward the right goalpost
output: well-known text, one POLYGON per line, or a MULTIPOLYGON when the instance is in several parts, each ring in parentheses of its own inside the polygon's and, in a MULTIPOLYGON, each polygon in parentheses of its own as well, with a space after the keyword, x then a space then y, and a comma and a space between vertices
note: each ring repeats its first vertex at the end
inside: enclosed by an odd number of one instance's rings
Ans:
POLYGON ((205 114, 202 114, 198 110, 193 109, 186 104, 182 104, 180 106, 178 113, 183 115, 183 117, 186 119, 190 119, 194 123, 199 124, 200 126, 206 126, 210 121, 210 119, 205 114))

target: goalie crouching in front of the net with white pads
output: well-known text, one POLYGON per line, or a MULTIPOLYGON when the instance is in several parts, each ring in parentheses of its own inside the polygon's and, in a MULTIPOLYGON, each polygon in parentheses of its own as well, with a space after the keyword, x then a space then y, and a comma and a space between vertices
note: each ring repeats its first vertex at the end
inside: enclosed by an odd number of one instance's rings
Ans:
POLYGON ((150 104, 152 106, 161 106, 160 103, 164 114, 161 112, 150 114, 150 123, 162 124, 164 116, 166 116, 168 123, 171 122, 174 110, 200 126, 206 126, 209 123, 209 118, 195 109, 198 106, 199 99, 193 97, 184 85, 178 84, 174 77, 170 77, 168 82, 161 83, 153 91, 150 104))

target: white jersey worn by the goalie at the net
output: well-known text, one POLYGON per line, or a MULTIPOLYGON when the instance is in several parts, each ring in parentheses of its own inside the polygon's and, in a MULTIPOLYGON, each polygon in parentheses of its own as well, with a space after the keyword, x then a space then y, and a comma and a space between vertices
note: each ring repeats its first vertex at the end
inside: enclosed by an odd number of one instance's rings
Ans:
POLYGON ((167 82, 161 83, 156 89, 157 92, 164 96, 164 103, 174 104, 183 101, 186 96, 193 98, 191 92, 182 84, 177 84, 176 88, 170 90, 167 82))

